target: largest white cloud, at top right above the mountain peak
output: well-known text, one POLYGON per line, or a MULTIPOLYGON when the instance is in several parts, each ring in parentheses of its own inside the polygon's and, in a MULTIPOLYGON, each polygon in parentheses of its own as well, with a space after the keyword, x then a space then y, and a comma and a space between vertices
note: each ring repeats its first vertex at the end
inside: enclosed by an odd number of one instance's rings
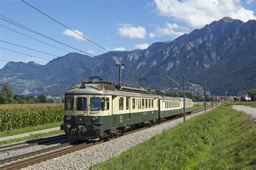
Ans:
POLYGON ((247 22, 256 19, 253 10, 245 9, 240 0, 154 0, 160 15, 167 16, 193 28, 200 28, 213 20, 231 17, 247 22))

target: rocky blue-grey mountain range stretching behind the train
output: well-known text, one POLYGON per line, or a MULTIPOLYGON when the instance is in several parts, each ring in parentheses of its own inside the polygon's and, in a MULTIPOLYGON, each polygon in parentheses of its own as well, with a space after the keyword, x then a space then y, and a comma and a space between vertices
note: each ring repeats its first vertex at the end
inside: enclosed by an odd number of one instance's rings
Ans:
MULTIPOLYGON (((118 80, 115 64, 122 62, 122 75, 143 75, 151 88, 167 87, 170 81, 160 75, 185 73, 188 82, 206 86, 214 94, 223 95, 227 90, 235 95, 256 86, 255 47, 256 20, 244 23, 224 17, 173 41, 155 42, 143 50, 107 52, 96 57, 69 53, 43 66, 35 62, 9 62, 0 69, 0 74, 45 81, 3 76, 0 81, 10 82, 16 94, 56 93, 89 76, 118 80)), ((180 77, 174 79, 182 82, 180 77)))

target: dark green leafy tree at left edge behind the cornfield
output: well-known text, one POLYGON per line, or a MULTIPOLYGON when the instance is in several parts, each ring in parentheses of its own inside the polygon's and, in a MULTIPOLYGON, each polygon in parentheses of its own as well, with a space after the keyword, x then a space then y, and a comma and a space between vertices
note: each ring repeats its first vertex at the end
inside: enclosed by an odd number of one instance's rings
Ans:
POLYGON ((8 83, 0 83, 0 104, 8 104, 14 101, 14 90, 8 83))

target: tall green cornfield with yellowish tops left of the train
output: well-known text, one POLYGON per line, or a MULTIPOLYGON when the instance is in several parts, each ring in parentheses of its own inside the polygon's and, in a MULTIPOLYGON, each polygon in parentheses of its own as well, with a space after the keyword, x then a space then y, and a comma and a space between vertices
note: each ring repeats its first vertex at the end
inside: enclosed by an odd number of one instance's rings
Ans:
POLYGON ((63 121, 64 104, 2 104, 0 131, 63 121))

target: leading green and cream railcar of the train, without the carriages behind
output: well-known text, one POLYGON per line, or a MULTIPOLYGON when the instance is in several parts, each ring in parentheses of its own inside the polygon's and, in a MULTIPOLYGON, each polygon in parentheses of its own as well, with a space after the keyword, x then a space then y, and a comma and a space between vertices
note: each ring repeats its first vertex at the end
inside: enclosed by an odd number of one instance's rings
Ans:
POLYGON ((158 120, 158 96, 109 84, 76 84, 65 93, 64 124, 71 138, 98 140, 158 120), (81 88, 83 86, 83 88, 81 88))

